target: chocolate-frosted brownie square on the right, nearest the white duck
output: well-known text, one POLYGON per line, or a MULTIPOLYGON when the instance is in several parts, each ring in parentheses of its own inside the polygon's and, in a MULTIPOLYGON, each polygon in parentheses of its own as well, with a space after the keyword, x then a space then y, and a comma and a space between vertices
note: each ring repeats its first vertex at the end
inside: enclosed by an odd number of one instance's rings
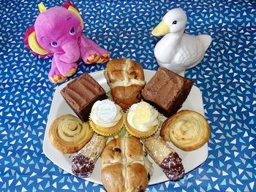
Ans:
POLYGON ((193 83, 192 80, 159 67, 141 93, 145 101, 156 107, 166 117, 170 117, 182 107, 193 83))

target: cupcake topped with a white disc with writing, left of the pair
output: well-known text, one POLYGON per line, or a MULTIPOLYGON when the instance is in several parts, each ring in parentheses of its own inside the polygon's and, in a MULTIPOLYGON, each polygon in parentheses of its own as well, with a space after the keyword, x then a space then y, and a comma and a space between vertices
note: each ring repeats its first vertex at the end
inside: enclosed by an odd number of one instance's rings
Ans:
POLYGON ((91 128, 103 136, 116 134, 124 126, 121 107, 109 99, 96 101, 89 118, 91 128))

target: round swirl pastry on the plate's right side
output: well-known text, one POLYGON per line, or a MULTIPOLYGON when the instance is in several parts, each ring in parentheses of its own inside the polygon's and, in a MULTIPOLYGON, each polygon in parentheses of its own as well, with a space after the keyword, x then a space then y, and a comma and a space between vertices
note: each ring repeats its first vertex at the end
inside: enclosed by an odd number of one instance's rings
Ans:
POLYGON ((200 113, 182 110, 167 118, 160 135, 181 150, 191 151, 202 147, 211 135, 207 120, 200 113))

